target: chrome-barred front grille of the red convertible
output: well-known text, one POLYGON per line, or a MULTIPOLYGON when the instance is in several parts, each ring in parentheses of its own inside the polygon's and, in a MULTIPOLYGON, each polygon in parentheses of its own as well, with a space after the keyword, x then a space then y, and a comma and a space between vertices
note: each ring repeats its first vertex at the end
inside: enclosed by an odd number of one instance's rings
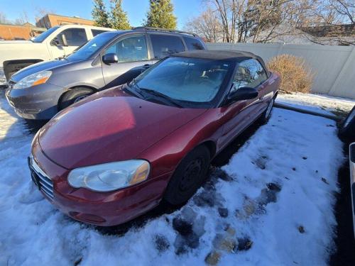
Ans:
POLYGON ((33 156, 28 157, 28 166, 31 170, 31 178, 33 183, 45 194, 50 200, 53 200, 53 182, 52 180, 40 169, 40 167, 33 160, 33 156))

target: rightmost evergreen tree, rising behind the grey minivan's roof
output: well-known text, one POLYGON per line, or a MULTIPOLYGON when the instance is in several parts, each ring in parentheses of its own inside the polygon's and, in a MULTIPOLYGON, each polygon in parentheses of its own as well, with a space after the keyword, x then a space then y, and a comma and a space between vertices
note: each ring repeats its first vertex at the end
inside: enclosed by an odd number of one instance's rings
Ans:
POLYGON ((155 28, 176 28, 174 6, 170 0, 150 0, 145 26, 155 28))

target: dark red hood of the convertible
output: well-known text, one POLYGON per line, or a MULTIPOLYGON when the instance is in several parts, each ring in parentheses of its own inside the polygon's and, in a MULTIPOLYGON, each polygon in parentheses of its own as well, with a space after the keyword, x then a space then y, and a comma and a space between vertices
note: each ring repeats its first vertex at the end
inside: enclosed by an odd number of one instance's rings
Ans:
POLYGON ((180 109, 109 89, 73 104, 40 131, 43 153, 73 169, 136 158, 206 109, 180 109))

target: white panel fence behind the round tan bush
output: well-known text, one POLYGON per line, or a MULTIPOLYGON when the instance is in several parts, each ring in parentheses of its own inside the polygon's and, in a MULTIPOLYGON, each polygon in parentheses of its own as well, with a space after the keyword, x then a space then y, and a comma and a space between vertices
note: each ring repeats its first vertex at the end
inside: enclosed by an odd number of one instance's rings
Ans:
POLYGON ((207 47, 210 50, 253 52, 266 62, 281 54, 303 57, 315 72, 313 93, 355 99, 355 46, 208 43, 207 47))

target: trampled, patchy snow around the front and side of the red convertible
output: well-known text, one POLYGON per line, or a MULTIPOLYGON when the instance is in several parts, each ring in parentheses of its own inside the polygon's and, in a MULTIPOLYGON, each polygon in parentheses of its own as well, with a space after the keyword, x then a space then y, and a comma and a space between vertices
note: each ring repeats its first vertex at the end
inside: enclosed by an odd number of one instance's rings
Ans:
POLYGON ((4 98, 0 133, 0 265, 327 264, 343 160, 334 121, 274 109, 185 206, 120 235, 43 199, 27 168, 32 135, 4 98))

